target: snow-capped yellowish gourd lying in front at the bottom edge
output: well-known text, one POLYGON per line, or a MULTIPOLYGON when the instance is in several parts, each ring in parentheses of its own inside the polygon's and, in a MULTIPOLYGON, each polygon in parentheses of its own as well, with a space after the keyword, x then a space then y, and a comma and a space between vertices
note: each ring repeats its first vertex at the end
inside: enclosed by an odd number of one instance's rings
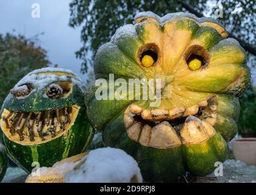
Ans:
POLYGON ((126 152, 101 148, 65 158, 30 174, 27 183, 143 182, 137 162, 126 152))

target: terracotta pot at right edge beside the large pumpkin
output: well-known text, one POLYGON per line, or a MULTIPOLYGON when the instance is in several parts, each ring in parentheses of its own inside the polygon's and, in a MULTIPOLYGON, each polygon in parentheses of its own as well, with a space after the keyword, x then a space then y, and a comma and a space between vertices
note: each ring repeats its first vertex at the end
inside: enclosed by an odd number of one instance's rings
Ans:
POLYGON ((241 160, 247 165, 256 165, 256 138, 240 138, 234 140, 233 154, 236 160, 241 160))

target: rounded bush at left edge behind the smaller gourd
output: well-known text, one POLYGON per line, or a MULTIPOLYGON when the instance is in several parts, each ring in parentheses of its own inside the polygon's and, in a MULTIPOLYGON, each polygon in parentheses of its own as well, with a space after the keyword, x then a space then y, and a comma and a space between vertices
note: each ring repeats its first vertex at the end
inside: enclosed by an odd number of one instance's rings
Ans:
POLYGON ((25 74, 48 65, 46 51, 35 41, 22 35, 0 34, 0 104, 25 74))

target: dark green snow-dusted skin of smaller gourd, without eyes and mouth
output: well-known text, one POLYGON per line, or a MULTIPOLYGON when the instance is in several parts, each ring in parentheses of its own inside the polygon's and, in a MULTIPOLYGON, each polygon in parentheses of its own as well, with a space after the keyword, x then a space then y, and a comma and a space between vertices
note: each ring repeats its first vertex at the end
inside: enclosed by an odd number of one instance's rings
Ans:
MULTIPOLYGON (((85 89, 82 87, 82 82, 77 76, 69 73, 69 71, 67 72, 65 69, 59 68, 43 68, 29 73, 27 76, 35 77, 35 80, 38 79, 39 81, 40 78, 46 80, 40 85, 34 80, 34 90, 24 99, 17 99, 12 94, 9 94, 2 105, 1 115, 4 108, 14 112, 40 112, 69 107, 71 105, 78 105, 80 107, 73 125, 65 130, 65 133, 60 137, 45 143, 23 145, 10 140, 5 133, 1 132, 2 144, 4 144, 10 158, 25 171, 31 172, 35 167, 49 167, 63 158, 84 152, 93 137, 93 128, 90 126, 86 115, 84 104, 85 89), (41 76, 35 75, 38 73, 41 76), (48 74, 44 75, 44 73, 48 74), (59 73, 64 73, 65 75, 55 75, 59 73), (48 75, 53 76, 51 79, 47 79, 48 75), (68 98, 50 99, 45 96, 44 88, 51 83, 62 81, 73 82, 73 91, 69 94, 68 98)), ((27 76, 21 79, 17 86, 29 82, 26 79, 27 76)))

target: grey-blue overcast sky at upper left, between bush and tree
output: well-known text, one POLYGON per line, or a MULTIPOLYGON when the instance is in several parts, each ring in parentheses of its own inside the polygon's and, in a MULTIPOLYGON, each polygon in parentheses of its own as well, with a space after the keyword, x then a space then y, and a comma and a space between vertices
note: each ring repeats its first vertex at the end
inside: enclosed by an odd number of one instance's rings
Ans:
POLYGON ((68 26, 69 2, 71 0, 1 0, 0 34, 12 32, 27 38, 40 35, 38 44, 48 52, 49 60, 59 64, 60 68, 71 69, 80 74, 79 59, 74 52, 80 49, 80 29, 68 26), (32 4, 40 5, 40 18, 32 18, 32 4))

